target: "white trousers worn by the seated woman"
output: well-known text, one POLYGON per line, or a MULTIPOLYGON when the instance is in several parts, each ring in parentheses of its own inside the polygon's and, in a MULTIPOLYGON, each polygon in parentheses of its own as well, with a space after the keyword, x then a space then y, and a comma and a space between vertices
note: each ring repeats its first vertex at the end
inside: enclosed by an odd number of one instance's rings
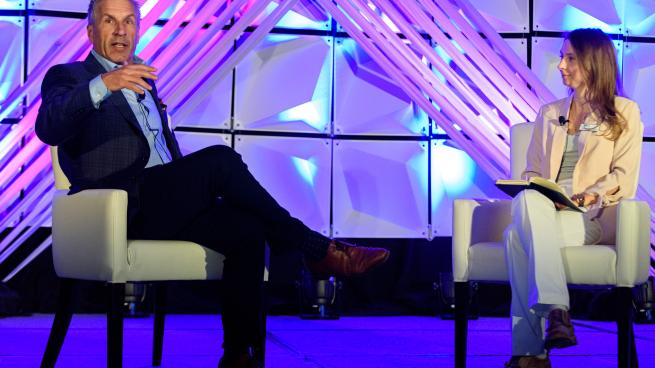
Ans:
POLYGON ((595 244, 600 225, 573 210, 556 210, 535 190, 512 201, 505 255, 512 287, 512 355, 544 351, 544 316, 552 305, 569 306, 561 248, 595 244))

